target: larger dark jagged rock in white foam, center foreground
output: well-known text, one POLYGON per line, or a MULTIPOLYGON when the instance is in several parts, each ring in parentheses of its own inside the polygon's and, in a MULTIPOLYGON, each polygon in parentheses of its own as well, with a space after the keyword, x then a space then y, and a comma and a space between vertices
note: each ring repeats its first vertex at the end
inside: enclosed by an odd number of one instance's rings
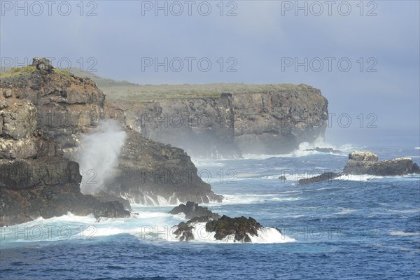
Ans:
POLYGON ((262 225, 253 218, 230 218, 223 215, 218 221, 211 221, 206 224, 207 232, 216 232, 214 236, 217 240, 221 240, 228 235, 235 235, 235 241, 251 242, 248 234, 258 236, 257 230, 262 228, 262 225))

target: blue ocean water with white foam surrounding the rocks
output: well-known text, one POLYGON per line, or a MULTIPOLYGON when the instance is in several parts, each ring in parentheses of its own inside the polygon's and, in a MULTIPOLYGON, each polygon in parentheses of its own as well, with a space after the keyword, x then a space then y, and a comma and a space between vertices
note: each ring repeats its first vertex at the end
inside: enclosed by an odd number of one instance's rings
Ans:
MULTIPOLYGON (((402 140, 336 148, 420 163, 418 137, 402 140)), ((169 229, 185 218, 167 214, 173 206, 135 205, 139 215, 128 219, 97 222, 68 214, 1 228, 0 277, 420 279, 420 176, 352 176, 297 186, 297 179, 337 171, 347 160, 346 154, 303 148, 288 155, 195 160, 202 179, 226 198, 206 206, 281 229, 283 238, 275 243, 174 241, 169 229), (281 175, 286 181, 277 179, 281 175)))

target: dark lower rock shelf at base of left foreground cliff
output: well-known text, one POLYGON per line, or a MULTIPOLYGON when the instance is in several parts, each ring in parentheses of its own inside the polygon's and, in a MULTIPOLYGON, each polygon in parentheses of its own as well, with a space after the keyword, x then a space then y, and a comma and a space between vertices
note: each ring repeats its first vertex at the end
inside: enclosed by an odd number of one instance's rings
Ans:
POLYGON ((95 218, 125 218, 118 201, 101 202, 80 193, 77 162, 64 158, 0 160, 0 226, 71 212, 95 218))

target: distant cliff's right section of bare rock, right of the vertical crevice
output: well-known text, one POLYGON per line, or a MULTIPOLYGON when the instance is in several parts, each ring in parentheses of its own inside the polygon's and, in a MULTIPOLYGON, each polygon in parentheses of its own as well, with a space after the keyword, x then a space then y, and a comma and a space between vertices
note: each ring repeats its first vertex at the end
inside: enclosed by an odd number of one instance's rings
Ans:
POLYGON ((328 101, 306 85, 267 93, 233 94, 235 144, 242 153, 290 153, 323 137, 328 101))

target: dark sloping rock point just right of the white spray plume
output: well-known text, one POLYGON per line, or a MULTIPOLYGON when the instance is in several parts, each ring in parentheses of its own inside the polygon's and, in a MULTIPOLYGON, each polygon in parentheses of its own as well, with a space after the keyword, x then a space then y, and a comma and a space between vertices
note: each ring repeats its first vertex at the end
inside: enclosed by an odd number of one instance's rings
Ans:
POLYGON ((151 200, 158 204, 162 197, 169 204, 223 200, 197 175, 183 150, 151 141, 134 130, 127 131, 115 181, 110 191, 123 193, 139 204, 151 204, 151 200))

